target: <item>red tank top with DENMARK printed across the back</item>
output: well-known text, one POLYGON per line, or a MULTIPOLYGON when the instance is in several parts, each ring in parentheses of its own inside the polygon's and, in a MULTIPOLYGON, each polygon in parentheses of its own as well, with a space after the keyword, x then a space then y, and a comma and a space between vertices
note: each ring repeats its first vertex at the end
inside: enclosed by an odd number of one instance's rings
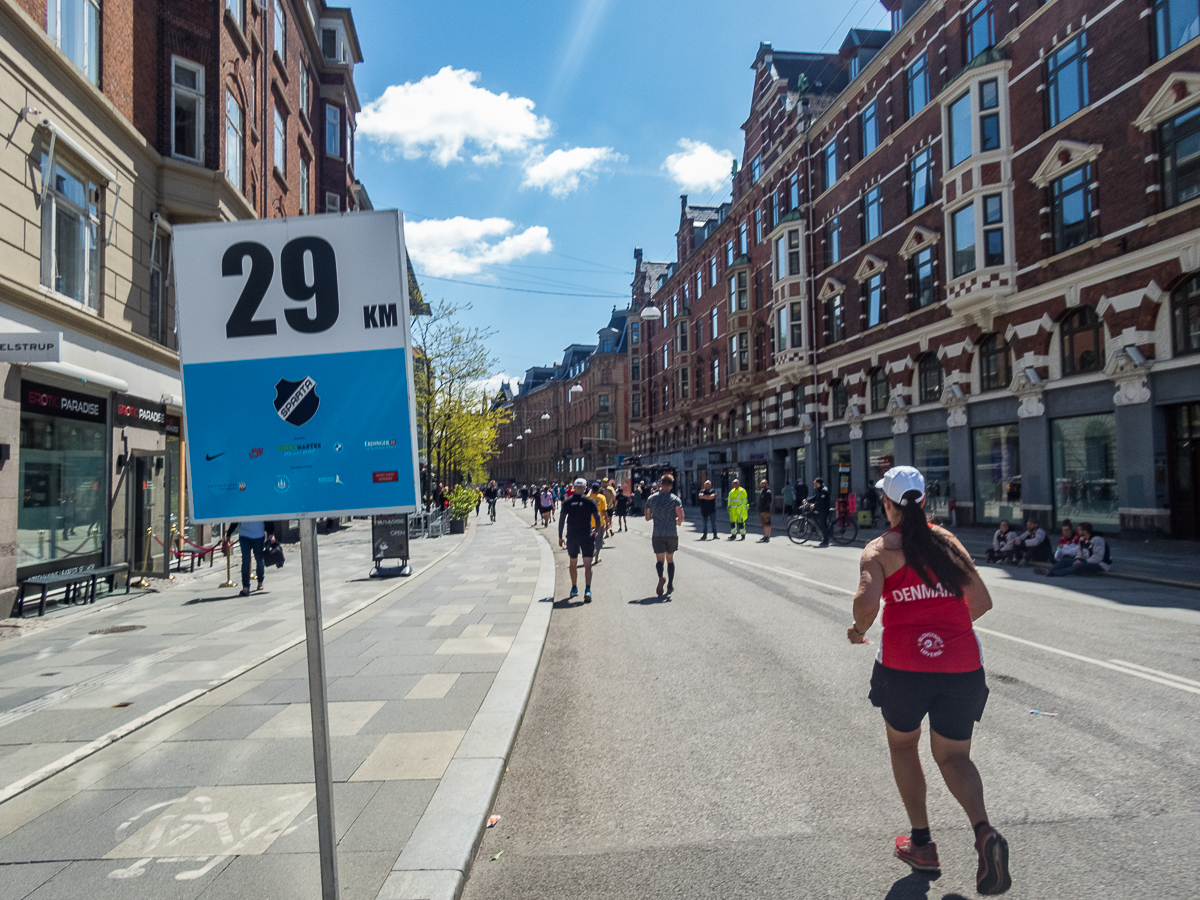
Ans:
POLYGON ((940 582, 907 565, 883 582, 883 636, 876 658, 906 672, 973 672, 983 665, 971 610, 940 582))

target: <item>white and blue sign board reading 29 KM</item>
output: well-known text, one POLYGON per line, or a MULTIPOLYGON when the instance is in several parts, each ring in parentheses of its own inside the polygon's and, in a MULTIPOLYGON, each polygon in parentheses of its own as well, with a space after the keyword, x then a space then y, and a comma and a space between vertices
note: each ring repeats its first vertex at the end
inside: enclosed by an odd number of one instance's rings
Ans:
POLYGON ((415 510, 400 214, 174 234, 193 521, 415 510))

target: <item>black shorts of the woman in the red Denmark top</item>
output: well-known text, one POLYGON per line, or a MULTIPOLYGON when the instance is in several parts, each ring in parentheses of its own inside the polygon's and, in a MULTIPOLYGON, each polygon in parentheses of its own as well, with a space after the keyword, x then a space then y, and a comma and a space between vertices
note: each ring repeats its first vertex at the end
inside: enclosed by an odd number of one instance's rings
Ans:
POLYGON ((899 732, 929 727, 950 740, 970 740, 988 703, 983 668, 973 672, 906 672, 880 662, 871 672, 871 704, 899 732))

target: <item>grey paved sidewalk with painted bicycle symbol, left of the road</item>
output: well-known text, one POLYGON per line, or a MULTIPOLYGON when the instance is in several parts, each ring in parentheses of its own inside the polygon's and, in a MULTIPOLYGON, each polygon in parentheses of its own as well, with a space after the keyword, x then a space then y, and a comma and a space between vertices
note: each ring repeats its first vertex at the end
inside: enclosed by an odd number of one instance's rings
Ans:
MULTIPOLYGON (((472 518, 461 542, 414 542, 419 574, 406 580, 366 578, 365 523, 322 538, 320 552, 342 896, 452 898, 536 670, 550 548, 502 515, 472 518)), ((281 574, 299 582, 298 562, 281 574)), ((127 725, 133 709, 197 692, 0 803, 0 898, 319 896, 299 588, 270 575, 286 599, 205 587, 122 604, 88 629, 143 631, 80 643, 86 625, 64 624, 0 643, 0 710, 25 713, 0 712, 6 784, 103 737, 110 713, 127 725), (76 692, 29 712, 25 685, 52 661, 74 667, 76 692), (134 707, 113 710, 116 697, 134 707)))

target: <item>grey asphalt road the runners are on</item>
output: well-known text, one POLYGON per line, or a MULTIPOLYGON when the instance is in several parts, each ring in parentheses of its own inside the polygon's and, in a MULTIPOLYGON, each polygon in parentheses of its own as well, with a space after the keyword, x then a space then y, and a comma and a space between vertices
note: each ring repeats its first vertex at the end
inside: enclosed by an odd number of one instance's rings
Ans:
MULTIPOLYGON (((866 700, 875 646, 845 637, 858 548, 697 538, 689 522, 668 602, 648 522, 611 539, 588 606, 562 600, 556 550, 559 601, 464 898, 976 896, 973 836, 928 739, 942 876, 890 856, 907 821, 866 700)), ((985 580, 973 756, 1012 848, 1008 896, 1195 898, 1200 595, 985 580)))

